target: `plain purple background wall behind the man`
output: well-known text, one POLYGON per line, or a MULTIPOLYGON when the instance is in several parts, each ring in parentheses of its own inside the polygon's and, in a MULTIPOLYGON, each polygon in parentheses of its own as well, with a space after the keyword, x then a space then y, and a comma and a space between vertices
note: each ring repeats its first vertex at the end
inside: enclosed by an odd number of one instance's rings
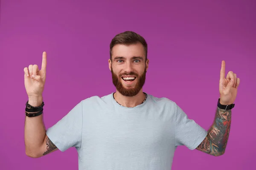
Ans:
POLYGON ((241 79, 226 153, 178 147, 173 170, 251 170, 256 161, 255 0, 2 0, 0 28, 1 170, 75 170, 75 148, 26 156, 23 68, 47 51, 44 122, 54 125, 79 101, 115 91, 109 43, 132 30, 148 42, 143 90, 175 102, 208 130, 219 97, 221 60, 241 79), (252 166, 252 167, 250 167, 252 166))

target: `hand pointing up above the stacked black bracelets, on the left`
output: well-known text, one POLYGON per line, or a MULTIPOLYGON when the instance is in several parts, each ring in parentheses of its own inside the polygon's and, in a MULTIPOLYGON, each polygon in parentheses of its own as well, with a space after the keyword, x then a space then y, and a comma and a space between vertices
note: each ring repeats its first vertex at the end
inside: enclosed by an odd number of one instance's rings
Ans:
POLYGON ((43 52, 41 70, 38 65, 29 65, 24 68, 24 84, 29 99, 38 99, 42 97, 46 79, 47 54, 43 52))

